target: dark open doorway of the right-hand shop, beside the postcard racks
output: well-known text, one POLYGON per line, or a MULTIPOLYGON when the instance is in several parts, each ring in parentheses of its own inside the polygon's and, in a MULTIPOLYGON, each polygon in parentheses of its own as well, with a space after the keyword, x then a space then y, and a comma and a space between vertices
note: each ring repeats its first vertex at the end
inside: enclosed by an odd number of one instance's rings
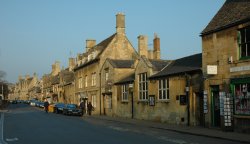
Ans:
POLYGON ((211 86, 211 115, 212 126, 220 126, 220 97, 219 86, 211 86))

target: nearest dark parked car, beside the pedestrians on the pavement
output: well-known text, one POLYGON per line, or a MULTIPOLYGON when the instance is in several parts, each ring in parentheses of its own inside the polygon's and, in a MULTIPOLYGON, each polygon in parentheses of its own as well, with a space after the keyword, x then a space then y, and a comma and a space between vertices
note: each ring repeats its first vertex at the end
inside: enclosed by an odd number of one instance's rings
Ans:
POLYGON ((82 116, 83 112, 82 109, 78 108, 76 104, 67 104, 63 108, 64 115, 78 115, 82 116))

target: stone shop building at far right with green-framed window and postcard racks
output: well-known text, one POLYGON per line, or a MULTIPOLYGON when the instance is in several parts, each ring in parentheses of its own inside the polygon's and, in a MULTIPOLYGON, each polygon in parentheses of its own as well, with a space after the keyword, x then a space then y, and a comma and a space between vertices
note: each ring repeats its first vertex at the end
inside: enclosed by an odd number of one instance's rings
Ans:
POLYGON ((250 132, 250 1, 227 0, 201 37, 206 125, 250 132))

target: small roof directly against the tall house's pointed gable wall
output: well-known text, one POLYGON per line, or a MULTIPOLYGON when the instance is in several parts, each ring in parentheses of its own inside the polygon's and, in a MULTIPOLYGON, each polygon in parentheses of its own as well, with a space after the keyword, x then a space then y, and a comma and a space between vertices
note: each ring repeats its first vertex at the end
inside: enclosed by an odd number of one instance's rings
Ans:
POLYGON ((131 68, 131 66, 134 64, 133 60, 108 59, 108 61, 114 68, 131 68))

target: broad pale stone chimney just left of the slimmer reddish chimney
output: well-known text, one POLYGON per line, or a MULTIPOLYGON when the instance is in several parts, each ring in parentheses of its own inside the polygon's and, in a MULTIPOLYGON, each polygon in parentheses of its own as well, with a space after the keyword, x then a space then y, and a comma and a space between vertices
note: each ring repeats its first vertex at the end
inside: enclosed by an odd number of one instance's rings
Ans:
POLYGON ((138 52, 140 56, 148 58, 148 37, 144 35, 138 36, 138 52))

